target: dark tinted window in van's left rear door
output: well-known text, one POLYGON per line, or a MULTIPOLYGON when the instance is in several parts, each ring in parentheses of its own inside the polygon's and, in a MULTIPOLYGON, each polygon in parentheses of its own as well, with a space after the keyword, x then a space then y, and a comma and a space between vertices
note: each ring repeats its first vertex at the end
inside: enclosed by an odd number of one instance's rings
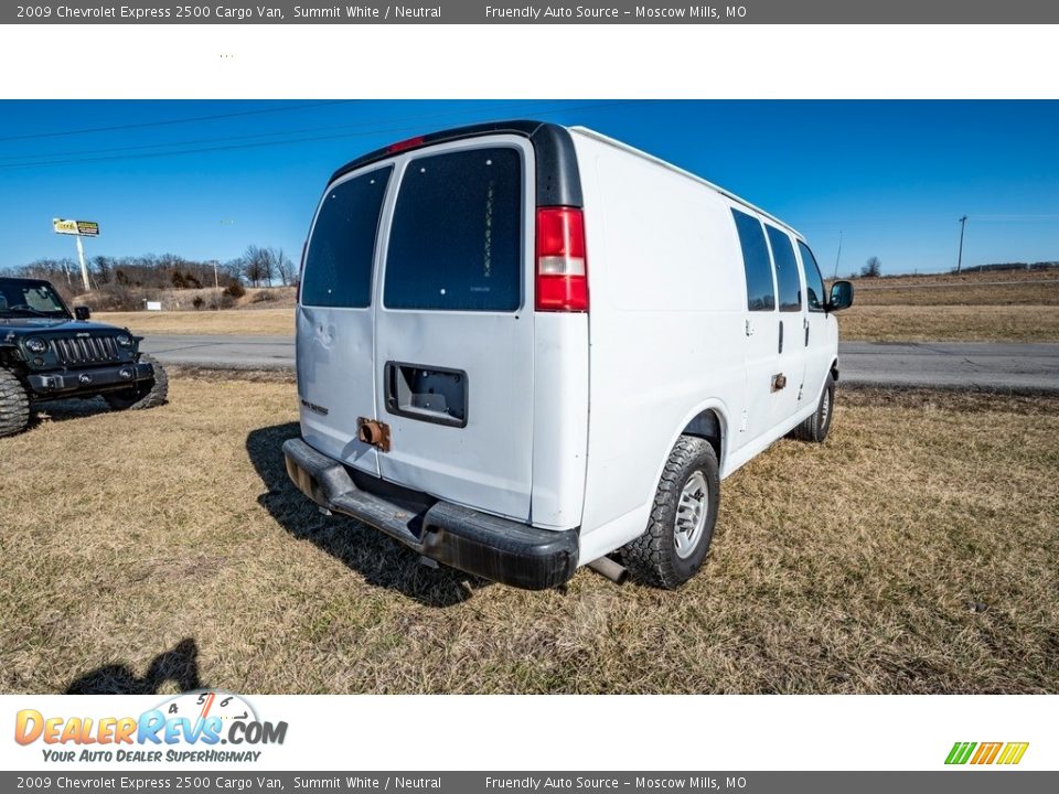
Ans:
POLYGON ((378 169, 328 191, 306 253, 301 286, 306 305, 371 305, 375 237, 392 171, 378 169))

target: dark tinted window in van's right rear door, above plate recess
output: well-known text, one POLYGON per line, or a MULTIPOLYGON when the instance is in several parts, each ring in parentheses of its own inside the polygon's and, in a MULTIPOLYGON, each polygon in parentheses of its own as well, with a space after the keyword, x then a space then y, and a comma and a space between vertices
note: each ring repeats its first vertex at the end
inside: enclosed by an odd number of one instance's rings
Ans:
POLYGON ((394 210, 388 309, 514 311, 522 286, 522 158, 511 148, 413 160, 394 210))

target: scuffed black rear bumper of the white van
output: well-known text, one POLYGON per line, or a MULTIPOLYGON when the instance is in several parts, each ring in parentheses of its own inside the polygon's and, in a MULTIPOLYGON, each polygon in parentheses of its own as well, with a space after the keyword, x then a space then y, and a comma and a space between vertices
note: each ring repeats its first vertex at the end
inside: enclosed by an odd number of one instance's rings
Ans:
POLYGON ((576 529, 538 529, 424 494, 409 498, 408 492, 403 496, 400 489, 360 473, 354 482, 344 465, 301 439, 284 443, 284 458, 290 479, 318 505, 452 568, 527 590, 557 587, 577 568, 576 529))

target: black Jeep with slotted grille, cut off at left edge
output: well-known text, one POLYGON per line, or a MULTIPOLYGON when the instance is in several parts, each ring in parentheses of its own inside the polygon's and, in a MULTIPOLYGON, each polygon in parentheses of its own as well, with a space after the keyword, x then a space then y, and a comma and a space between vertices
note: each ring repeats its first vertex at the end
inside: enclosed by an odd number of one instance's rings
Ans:
POLYGON ((45 400, 103 396, 117 410, 165 401, 162 366, 141 336, 72 314, 47 281, 0 278, 0 437, 25 429, 45 400))

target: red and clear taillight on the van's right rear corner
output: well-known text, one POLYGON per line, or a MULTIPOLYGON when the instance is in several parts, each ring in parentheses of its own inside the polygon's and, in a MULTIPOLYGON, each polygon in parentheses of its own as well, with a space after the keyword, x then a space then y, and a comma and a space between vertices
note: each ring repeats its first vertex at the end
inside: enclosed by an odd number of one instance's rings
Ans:
POLYGON ((588 311, 585 215, 575 207, 537 208, 537 311, 588 311))

